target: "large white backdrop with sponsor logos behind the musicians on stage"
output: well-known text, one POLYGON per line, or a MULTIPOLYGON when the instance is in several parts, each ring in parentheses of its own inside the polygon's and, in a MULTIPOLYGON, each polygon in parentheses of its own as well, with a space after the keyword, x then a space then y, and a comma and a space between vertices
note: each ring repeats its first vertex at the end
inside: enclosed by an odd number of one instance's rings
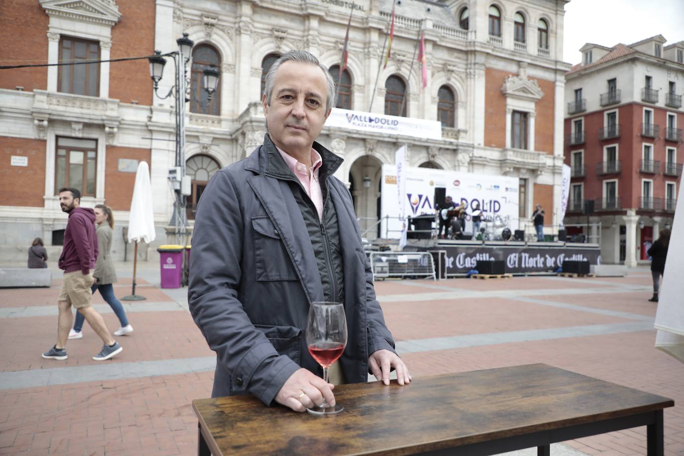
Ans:
MULTIPOLYGON (((439 187, 445 188, 447 196, 451 196, 457 205, 461 201, 465 202, 468 214, 477 202, 486 223, 496 222, 508 226, 511 231, 518 228, 518 178, 408 167, 406 192, 402 201, 397 201, 397 168, 395 165, 382 165, 380 215, 395 217, 382 221, 382 235, 387 232, 389 239, 399 239, 402 229, 401 222, 396 218, 400 213, 399 204, 404 204, 404 213, 410 217, 434 214, 434 189, 439 187)), ((470 216, 467 217, 464 231, 473 231, 470 216)))

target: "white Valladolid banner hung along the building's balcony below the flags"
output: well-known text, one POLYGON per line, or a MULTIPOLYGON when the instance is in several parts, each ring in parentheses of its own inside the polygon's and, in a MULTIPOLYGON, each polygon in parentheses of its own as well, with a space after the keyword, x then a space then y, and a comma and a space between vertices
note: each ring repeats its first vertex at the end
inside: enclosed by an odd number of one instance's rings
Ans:
POLYGON ((442 124, 436 120, 386 116, 363 111, 333 108, 326 126, 425 139, 442 139, 442 124))

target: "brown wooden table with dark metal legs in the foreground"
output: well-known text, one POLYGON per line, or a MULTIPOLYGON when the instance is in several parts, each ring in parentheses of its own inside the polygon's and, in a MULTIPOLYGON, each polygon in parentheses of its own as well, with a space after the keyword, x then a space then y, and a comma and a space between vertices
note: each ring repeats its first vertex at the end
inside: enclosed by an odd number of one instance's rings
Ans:
POLYGON ((266 407, 252 396, 198 399, 198 453, 492 455, 647 426, 663 455, 663 408, 674 401, 546 364, 343 385, 332 416, 266 407), (211 453, 210 453, 211 452, 211 453))

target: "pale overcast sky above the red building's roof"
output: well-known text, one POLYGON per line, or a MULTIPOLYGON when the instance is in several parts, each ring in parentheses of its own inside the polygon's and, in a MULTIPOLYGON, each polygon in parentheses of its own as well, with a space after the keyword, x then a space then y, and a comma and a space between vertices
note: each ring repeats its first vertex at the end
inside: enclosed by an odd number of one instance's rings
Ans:
POLYGON ((563 60, 581 62, 592 42, 612 47, 661 34, 668 44, 684 40, 684 0, 570 0, 565 5, 563 60))

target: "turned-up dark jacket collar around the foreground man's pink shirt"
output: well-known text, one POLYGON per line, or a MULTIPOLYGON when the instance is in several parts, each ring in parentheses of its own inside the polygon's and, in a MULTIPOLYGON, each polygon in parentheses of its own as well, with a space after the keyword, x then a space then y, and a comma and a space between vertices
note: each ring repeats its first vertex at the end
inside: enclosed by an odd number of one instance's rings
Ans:
MULTIPOLYGON (((323 159, 323 164, 319 170, 321 180, 334 174, 344 161, 341 157, 334 155, 330 150, 321 146, 321 144, 314 142, 312 146, 323 159)), ((280 156, 280 152, 273 144, 271 137, 266 133, 263 136, 263 146, 258 147, 246 159, 246 170, 257 172, 258 174, 267 174, 268 176, 280 178, 296 178, 290 171, 285 160, 280 156)))

